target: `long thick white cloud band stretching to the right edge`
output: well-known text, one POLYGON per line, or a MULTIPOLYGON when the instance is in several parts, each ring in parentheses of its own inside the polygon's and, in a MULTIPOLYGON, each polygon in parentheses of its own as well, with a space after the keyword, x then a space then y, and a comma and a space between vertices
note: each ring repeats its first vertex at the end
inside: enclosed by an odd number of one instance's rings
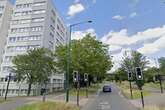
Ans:
POLYGON ((129 46, 133 44, 144 43, 145 41, 155 38, 158 39, 164 35, 165 26, 150 28, 131 36, 129 36, 127 29, 122 29, 119 32, 109 32, 107 35, 102 37, 101 41, 109 45, 129 46))

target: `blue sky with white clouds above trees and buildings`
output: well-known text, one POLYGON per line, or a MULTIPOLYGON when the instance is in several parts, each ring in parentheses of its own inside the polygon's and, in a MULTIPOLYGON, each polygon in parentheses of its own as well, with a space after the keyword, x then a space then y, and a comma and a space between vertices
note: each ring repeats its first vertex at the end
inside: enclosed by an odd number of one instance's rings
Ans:
MULTIPOLYGON (((14 0, 13 0, 14 1, 14 0)), ((86 33, 108 44, 115 68, 125 50, 137 50, 153 58, 165 56, 165 0, 53 0, 66 25, 92 20, 74 27, 72 38, 86 33)))

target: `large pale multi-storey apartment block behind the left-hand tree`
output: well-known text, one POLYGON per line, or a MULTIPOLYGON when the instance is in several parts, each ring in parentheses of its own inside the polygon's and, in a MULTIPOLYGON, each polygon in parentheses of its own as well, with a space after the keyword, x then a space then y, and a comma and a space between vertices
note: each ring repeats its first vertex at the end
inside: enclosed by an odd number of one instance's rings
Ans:
MULTIPOLYGON (((67 28, 51 0, 16 0, 1 65, 1 95, 4 95, 7 84, 5 77, 11 73, 14 56, 24 54, 29 49, 41 47, 53 51, 57 46, 66 42, 67 28)), ((64 75, 52 75, 48 84, 49 92, 63 89, 63 86, 64 75)), ((33 85, 31 93, 38 95, 40 88, 40 85, 33 85)), ((26 82, 16 83, 12 80, 8 94, 11 96, 26 95, 27 89, 26 82)))

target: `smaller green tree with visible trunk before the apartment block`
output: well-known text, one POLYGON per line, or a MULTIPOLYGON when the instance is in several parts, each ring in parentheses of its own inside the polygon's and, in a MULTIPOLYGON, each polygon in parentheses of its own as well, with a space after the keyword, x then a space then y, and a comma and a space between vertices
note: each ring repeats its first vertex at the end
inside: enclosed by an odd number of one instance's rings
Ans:
POLYGON ((17 55, 13 59, 13 70, 18 81, 27 81, 30 95, 32 84, 45 84, 55 71, 54 55, 45 48, 33 49, 26 54, 17 55))

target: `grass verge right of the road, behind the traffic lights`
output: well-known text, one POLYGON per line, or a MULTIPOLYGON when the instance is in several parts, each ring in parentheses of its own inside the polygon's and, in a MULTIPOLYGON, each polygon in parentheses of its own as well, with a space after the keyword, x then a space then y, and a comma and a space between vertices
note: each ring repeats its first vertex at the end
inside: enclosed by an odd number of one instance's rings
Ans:
MULTIPOLYGON (((124 96, 128 99, 131 99, 129 82, 124 81, 121 84, 118 84, 118 86, 122 89, 124 96)), ((133 99, 138 99, 141 97, 139 89, 133 83, 132 83, 132 94, 133 94, 133 99)), ((143 95, 149 96, 150 93, 147 91, 143 91, 143 95)))

